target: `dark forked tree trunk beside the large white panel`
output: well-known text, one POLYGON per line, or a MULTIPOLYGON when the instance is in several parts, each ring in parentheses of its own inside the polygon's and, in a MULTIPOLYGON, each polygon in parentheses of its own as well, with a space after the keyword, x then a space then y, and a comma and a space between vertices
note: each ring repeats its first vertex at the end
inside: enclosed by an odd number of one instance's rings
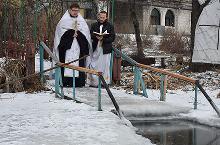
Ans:
POLYGON ((200 5, 198 0, 192 0, 192 14, 191 14, 191 58, 190 58, 190 69, 191 70, 198 70, 198 68, 201 65, 195 65, 192 63, 192 56, 193 56, 193 49, 194 49, 194 43, 195 43, 195 30, 196 25, 199 20, 199 16, 202 13, 202 10, 204 7, 206 7, 211 0, 206 0, 206 2, 203 5, 200 5))

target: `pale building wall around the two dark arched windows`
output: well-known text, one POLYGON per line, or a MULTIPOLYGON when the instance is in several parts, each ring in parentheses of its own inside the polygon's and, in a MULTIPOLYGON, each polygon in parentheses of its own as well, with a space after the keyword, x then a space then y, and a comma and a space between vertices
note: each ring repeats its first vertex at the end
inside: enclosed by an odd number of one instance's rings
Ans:
MULTIPOLYGON (((133 24, 130 19, 129 5, 123 0, 116 1, 115 25, 118 33, 133 33, 133 24)), ((191 30, 191 0, 144 0, 137 2, 136 9, 140 30, 144 34, 163 35, 166 29, 190 35, 191 30), (156 8, 160 11, 161 25, 150 25, 151 11, 156 8), (171 10, 175 17, 174 27, 165 26, 165 16, 171 10)))

